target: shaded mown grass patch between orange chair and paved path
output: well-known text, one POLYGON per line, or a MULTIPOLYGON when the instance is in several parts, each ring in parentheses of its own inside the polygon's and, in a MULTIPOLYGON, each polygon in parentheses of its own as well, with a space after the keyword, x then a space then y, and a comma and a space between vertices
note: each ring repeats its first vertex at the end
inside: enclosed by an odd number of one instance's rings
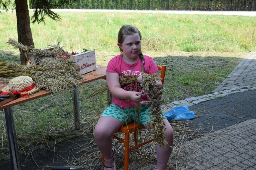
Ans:
POLYGON ((241 61, 219 56, 167 56, 154 58, 167 66, 164 84, 167 102, 209 94, 241 61), (166 63, 166 61, 170 61, 166 63))

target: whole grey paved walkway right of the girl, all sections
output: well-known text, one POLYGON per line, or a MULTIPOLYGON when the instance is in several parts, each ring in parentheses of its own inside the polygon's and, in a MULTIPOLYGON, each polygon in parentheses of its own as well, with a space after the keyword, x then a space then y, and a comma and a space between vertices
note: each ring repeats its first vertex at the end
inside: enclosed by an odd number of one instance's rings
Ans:
POLYGON ((178 169, 256 169, 256 52, 251 52, 212 94, 175 101, 198 112, 198 139, 186 142, 190 157, 178 169), (221 98, 220 98, 221 97, 221 98))

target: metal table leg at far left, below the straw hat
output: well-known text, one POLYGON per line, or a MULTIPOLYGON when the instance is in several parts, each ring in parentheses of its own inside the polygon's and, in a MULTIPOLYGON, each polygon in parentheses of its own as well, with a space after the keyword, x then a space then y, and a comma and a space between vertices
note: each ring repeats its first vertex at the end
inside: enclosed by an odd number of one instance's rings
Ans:
POLYGON ((3 112, 5 117, 5 127, 10 152, 11 166, 13 170, 20 170, 19 150, 17 145, 12 108, 5 108, 3 109, 3 112))

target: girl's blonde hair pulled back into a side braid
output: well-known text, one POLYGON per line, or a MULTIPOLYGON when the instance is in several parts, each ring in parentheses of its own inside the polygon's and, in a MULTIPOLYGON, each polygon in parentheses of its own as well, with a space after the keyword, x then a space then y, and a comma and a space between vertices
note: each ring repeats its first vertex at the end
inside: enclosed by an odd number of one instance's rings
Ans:
MULTIPOLYGON (((123 25, 118 32, 117 42, 122 44, 124 41, 124 35, 133 35, 133 34, 139 34, 140 40, 142 39, 138 28, 131 26, 131 25, 123 25)), ((120 47, 119 47, 119 50, 121 53, 123 53, 123 51, 120 47)), ((139 58, 142 61, 142 66, 141 66, 142 72, 145 72, 145 67, 144 67, 145 58, 142 55, 142 51, 139 53, 139 58)))

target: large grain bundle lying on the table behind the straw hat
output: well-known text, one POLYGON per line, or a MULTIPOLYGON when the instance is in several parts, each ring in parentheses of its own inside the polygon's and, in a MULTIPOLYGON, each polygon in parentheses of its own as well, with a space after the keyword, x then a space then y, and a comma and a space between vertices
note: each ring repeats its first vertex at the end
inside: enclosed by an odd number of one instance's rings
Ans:
POLYGON ((77 70, 77 65, 62 57, 46 58, 41 65, 20 65, 15 62, 0 61, 0 77, 3 81, 27 75, 35 81, 35 86, 52 92, 73 90, 74 86, 81 86, 83 77, 77 70))

